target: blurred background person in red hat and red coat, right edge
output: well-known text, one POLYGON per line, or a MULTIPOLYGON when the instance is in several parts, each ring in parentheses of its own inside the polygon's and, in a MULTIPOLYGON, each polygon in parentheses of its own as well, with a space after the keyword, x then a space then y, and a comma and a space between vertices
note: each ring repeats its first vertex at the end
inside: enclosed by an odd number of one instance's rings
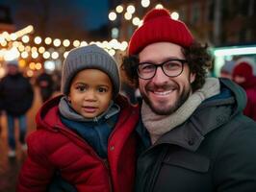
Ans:
POLYGON ((243 113, 256 121, 256 63, 250 58, 241 58, 236 61, 233 70, 233 80, 240 84, 246 92, 247 104, 243 113))

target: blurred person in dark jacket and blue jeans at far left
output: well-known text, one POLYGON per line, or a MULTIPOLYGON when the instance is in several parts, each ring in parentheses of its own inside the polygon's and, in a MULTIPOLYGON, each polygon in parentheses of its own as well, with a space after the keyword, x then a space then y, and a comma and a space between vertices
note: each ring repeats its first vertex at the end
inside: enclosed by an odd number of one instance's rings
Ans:
POLYGON ((26 151, 25 136, 27 132, 26 112, 32 107, 34 91, 32 84, 19 72, 18 61, 10 60, 6 63, 7 74, 0 81, 0 104, 7 115, 8 125, 8 156, 15 156, 15 120, 18 121, 19 141, 21 149, 26 151))

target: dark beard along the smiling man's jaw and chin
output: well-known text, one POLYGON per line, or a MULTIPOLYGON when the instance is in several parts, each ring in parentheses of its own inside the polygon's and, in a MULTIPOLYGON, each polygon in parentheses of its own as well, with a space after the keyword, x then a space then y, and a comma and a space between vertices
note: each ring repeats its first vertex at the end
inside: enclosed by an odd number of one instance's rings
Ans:
MULTIPOLYGON (((144 100, 144 102, 151 108, 151 110, 158 114, 158 115, 169 115, 173 112, 175 112, 178 108, 180 108, 190 97, 191 95, 191 87, 185 88, 180 96, 178 96, 178 99, 174 104, 172 104, 169 108, 155 108, 153 103, 149 100, 146 94, 144 92, 141 92, 141 96, 144 100)), ((164 104, 165 105, 165 104, 164 104)))

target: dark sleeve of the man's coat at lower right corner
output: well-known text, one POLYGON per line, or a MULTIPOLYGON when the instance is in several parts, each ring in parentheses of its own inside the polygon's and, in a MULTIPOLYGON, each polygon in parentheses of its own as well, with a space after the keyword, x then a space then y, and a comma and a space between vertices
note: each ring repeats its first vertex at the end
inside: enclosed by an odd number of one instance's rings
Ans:
POLYGON ((218 192, 256 191, 256 124, 244 123, 219 151, 214 180, 218 192))

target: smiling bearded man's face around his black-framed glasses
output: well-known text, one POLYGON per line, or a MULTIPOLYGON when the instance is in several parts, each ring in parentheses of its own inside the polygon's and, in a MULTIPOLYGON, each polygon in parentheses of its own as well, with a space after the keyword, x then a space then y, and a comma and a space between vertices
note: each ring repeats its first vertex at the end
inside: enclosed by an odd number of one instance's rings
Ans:
MULTIPOLYGON (((140 62, 158 65, 166 60, 185 60, 182 47, 170 42, 157 42, 146 46, 139 54, 140 62)), ((184 63, 183 72, 177 77, 167 77, 161 67, 157 68, 152 79, 139 78, 139 87, 143 100, 157 114, 171 114, 179 108, 192 92, 191 84, 195 75, 190 73, 188 63, 184 63)))

